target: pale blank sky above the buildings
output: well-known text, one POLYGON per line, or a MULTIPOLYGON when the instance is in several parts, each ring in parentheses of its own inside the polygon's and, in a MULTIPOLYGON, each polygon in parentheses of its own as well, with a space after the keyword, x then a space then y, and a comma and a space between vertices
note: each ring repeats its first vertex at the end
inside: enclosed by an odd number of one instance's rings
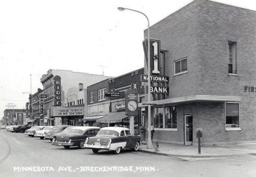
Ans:
MULTIPOLYGON (((191 0, 0 0, 0 119, 5 105, 25 108, 30 93, 43 88, 49 69, 119 76, 144 66, 146 18, 150 24, 191 0), (103 67, 104 66, 104 67, 103 67)), ((256 10, 256 1, 216 2, 256 10)))

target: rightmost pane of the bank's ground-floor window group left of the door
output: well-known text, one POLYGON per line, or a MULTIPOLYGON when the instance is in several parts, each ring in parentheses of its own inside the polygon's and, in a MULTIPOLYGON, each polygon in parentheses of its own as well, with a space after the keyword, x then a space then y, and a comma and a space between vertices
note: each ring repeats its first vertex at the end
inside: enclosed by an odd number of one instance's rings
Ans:
POLYGON ((165 128, 177 129, 177 107, 176 106, 165 108, 165 128))

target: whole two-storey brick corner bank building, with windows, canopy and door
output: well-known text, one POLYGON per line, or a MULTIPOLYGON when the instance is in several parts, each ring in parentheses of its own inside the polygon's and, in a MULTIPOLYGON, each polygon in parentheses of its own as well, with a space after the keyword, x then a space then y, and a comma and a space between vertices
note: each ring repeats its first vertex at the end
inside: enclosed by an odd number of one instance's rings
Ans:
MULTIPOLYGON (((168 77, 152 84, 169 92, 152 94, 154 140, 191 145, 202 129, 203 144, 256 141, 255 29, 255 11, 205 0, 150 27, 164 52, 150 60, 150 70, 168 77)), ((147 126, 145 102, 139 107, 147 126)))

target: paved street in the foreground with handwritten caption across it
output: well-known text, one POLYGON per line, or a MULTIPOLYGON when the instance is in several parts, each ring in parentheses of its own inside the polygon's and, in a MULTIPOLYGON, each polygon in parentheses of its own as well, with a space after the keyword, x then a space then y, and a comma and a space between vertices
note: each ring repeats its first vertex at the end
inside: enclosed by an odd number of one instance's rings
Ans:
POLYGON ((48 140, 0 131, 0 176, 256 176, 255 167, 253 155, 186 161, 133 151, 93 154, 89 149, 64 149, 48 140), (35 169, 22 172, 22 167, 35 169), (107 172, 92 172, 104 167, 107 172), (42 172, 47 169, 49 172, 42 172))

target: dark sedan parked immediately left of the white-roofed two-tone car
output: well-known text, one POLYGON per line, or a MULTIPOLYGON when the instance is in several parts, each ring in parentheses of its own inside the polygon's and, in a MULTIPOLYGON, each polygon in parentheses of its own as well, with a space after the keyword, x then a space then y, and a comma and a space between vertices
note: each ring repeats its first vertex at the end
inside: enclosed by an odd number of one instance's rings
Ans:
POLYGON ((62 145, 64 148, 77 146, 84 148, 84 142, 87 137, 95 136, 100 127, 95 126, 75 126, 67 131, 67 134, 57 135, 52 144, 62 145))

